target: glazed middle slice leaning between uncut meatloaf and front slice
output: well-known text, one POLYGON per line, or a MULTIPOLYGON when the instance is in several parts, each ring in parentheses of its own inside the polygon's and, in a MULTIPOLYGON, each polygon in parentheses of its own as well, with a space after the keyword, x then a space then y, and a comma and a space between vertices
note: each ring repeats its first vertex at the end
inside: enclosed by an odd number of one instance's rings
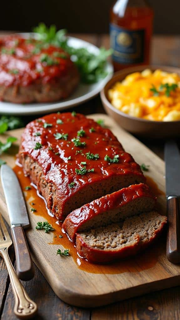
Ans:
POLYGON ((77 232, 106 226, 128 216, 151 211, 155 200, 147 185, 132 185, 84 204, 68 214, 62 227, 70 239, 75 240, 77 232))

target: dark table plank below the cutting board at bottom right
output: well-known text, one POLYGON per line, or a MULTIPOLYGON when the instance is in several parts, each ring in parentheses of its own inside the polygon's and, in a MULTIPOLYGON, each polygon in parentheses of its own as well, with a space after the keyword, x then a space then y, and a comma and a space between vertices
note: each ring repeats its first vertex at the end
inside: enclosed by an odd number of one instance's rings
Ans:
POLYGON ((180 287, 92 310, 91 320, 179 320, 180 287))

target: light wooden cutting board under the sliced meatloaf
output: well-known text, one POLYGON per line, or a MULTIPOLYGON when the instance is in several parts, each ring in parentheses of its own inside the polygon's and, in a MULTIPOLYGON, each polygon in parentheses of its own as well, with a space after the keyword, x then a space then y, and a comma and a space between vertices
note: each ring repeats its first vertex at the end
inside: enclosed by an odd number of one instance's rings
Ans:
MULTIPOLYGON (((148 176, 158 184, 160 190, 164 191, 164 162, 158 156, 129 133, 122 130, 108 116, 96 114, 89 117, 94 120, 103 119, 106 126, 112 130, 137 163, 150 165, 149 172, 147 172, 148 176)), ((23 129, 14 130, 8 132, 7 135, 12 135, 19 139, 22 131, 23 129)), ((1 140, 5 140, 7 135, 1 136, 1 140)), ((17 150, 18 143, 17 146, 12 148, 13 155, 6 154, 2 156, 12 167, 15 165, 14 155, 17 150)), ((33 199, 30 200, 33 201, 33 199)), ((91 265, 88 272, 86 272, 81 266, 78 267, 71 255, 69 257, 56 255, 57 249, 63 249, 63 247, 60 245, 60 239, 58 244, 51 244, 56 243, 56 241, 53 241, 52 232, 46 234, 43 231, 35 230, 37 221, 49 221, 49 216, 43 205, 37 210, 36 214, 31 212, 30 200, 27 203, 27 208, 31 228, 26 231, 26 235, 33 260, 54 292, 63 301, 75 306, 96 307, 180 284, 180 266, 171 264, 165 256, 165 234, 146 252, 131 260, 113 264, 111 272, 109 272, 107 266, 103 267, 101 265, 95 267, 91 265), (46 219, 42 218, 42 215, 46 219)), ((164 195, 158 196, 158 206, 162 214, 165 214, 166 202, 164 195)), ((8 221, 2 188, 0 188, 0 211, 8 221)), ((55 221, 54 218, 52 219, 55 221)), ((59 228, 58 225, 56 226, 56 228, 59 228)), ((60 228, 59 231, 61 231, 60 228)), ((78 263, 80 263, 80 259, 78 263)), ((41 286, 41 284, 39 285, 41 286)))

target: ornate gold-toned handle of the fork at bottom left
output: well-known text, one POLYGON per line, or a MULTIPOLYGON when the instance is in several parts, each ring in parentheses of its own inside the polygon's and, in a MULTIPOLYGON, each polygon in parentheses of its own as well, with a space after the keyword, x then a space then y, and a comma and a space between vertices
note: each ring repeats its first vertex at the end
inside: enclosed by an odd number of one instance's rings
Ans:
POLYGON ((8 249, 5 247, 0 249, 0 254, 4 259, 6 264, 8 274, 10 277, 10 282, 12 286, 12 291, 14 293, 15 305, 14 313, 20 319, 28 319, 35 315, 37 312, 37 305, 32 301, 27 295, 25 289, 23 288, 16 272, 12 266, 11 260, 9 258, 8 249))

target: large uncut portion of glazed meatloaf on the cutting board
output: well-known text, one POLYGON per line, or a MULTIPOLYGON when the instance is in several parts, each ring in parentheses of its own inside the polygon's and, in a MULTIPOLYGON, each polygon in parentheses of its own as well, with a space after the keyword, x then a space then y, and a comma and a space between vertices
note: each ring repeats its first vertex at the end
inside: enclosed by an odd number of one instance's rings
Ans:
POLYGON ((76 113, 27 124, 18 157, 59 220, 94 199, 145 182, 140 166, 113 133, 76 113))

